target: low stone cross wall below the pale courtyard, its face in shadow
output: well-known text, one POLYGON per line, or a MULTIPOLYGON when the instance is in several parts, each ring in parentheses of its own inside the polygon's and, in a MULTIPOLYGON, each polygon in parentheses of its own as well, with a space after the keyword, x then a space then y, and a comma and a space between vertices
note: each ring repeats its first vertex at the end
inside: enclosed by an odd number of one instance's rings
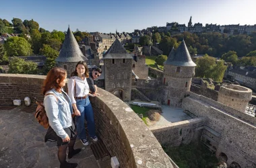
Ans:
POLYGON ((206 118, 195 118, 182 122, 170 123, 168 126, 152 128, 154 136, 160 144, 168 146, 180 146, 190 142, 198 142, 202 130, 196 130, 197 124, 205 122, 206 118))

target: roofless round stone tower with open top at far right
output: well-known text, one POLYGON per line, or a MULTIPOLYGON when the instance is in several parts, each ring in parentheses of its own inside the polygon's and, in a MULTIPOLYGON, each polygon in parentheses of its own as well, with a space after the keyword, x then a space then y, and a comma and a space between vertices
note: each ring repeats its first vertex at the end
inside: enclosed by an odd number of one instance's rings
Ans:
POLYGON ((223 85, 220 87, 218 101, 239 112, 245 112, 251 99, 252 91, 247 87, 240 85, 223 85))

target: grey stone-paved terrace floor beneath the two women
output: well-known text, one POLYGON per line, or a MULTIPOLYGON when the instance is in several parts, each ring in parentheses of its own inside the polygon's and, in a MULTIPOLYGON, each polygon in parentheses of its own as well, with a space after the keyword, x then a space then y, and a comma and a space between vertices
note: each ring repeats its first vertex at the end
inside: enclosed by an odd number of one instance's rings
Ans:
MULTIPOLYGON (((45 132, 32 113, 0 107, 0 167, 59 167, 56 142, 44 143, 45 132)), ((70 159, 71 163, 78 163, 78 167, 110 167, 109 157, 96 160, 90 146, 83 146, 79 140, 75 142, 77 148, 82 152, 70 159)))

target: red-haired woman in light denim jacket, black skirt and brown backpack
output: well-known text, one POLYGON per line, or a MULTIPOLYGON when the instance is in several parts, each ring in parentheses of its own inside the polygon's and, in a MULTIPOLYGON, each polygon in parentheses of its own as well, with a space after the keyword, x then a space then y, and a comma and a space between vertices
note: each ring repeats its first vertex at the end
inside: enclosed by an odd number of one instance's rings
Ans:
POLYGON ((50 124, 44 141, 57 141, 60 167, 77 167, 77 163, 67 163, 66 161, 67 147, 69 147, 69 159, 81 151, 81 149, 73 149, 76 134, 71 117, 73 114, 71 100, 63 91, 66 82, 67 72, 61 68, 51 69, 44 80, 42 87, 42 92, 45 95, 44 108, 50 124))

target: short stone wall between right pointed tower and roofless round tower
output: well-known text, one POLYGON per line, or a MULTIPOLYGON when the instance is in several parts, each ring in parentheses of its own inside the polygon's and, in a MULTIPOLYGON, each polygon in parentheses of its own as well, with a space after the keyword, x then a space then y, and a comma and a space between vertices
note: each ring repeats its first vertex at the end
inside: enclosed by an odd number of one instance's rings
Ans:
POLYGON ((194 85, 193 83, 191 83, 190 91, 192 91, 193 93, 197 93, 197 95, 203 95, 210 99, 214 99, 215 101, 218 100, 218 91, 215 91, 210 88, 200 87, 198 85, 194 85))

